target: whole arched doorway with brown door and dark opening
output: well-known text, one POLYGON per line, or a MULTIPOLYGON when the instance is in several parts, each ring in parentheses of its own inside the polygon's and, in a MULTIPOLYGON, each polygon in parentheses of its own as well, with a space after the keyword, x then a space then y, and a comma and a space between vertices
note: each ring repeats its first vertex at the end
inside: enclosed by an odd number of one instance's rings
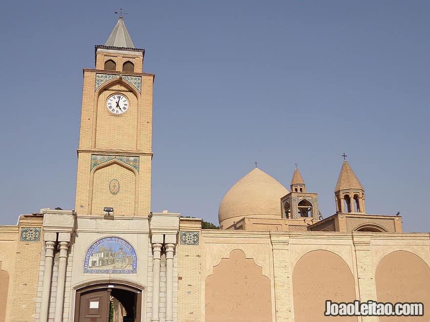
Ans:
POLYGON ((98 283, 76 291, 75 322, 140 322, 142 289, 98 283))

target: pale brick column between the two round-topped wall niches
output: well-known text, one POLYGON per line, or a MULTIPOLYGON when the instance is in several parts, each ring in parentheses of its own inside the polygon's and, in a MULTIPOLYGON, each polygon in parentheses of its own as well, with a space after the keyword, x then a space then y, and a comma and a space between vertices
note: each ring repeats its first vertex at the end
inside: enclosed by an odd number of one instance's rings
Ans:
MULTIPOLYGON (((355 258, 357 261, 358 288, 360 301, 376 301, 376 285, 372 267, 372 257, 370 253, 370 236, 363 236, 363 233, 352 233, 352 240, 355 247, 355 258)), ((362 317, 363 322, 378 322, 378 317, 362 317)))

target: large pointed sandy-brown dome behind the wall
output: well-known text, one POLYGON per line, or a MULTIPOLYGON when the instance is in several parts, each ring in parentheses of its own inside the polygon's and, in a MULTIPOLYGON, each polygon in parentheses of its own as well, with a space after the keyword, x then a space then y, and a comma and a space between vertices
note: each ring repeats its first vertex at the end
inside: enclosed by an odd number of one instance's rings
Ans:
POLYGON ((255 168, 225 194, 219 205, 219 224, 225 229, 243 217, 280 218, 280 198, 288 193, 280 182, 255 168))

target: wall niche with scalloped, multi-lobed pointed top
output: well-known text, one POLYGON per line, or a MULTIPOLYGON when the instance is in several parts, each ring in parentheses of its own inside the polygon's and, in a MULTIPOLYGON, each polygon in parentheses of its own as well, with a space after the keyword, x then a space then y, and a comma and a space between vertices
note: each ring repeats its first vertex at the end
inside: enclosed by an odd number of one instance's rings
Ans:
POLYGON ((272 321, 270 280, 242 250, 232 250, 206 278, 205 321, 272 321))

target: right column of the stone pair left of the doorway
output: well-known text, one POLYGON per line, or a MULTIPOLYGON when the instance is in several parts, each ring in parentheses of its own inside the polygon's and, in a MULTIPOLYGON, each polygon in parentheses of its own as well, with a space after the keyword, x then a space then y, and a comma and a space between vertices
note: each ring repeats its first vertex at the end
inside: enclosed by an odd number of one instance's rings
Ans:
POLYGON ((60 245, 60 261, 58 264, 58 278, 57 278, 57 291, 56 291, 57 297, 55 298, 54 322, 63 321, 65 269, 67 264, 67 252, 69 247, 70 234, 59 233, 58 241, 60 245))

